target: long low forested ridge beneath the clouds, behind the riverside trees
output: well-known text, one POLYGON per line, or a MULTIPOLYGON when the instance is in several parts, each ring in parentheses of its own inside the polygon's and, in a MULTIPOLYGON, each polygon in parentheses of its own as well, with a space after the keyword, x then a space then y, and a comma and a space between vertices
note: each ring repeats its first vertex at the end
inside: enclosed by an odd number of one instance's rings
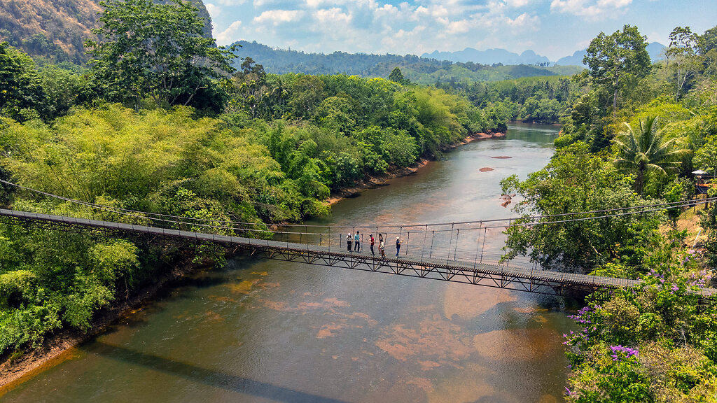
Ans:
MULTIPOLYGON (((413 54, 351 54, 346 52, 304 53, 295 50, 273 49, 257 42, 237 42, 239 57, 251 57, 262 65, 267 72, 285 74, 288 72, 305 74, 359 75, 361 77, 388 77, 391 70, 400 67, 404 77, 418 84, 435 84, 449 81, 495 81, 521 77, 548 75, 569 75, 579 67, 536 67, 529 65, 503 66, 480 65, 473 62, 454 63, 435 59, 425 59, 413 54)), ((241 63, 237 61, 237 65, 241 63)))

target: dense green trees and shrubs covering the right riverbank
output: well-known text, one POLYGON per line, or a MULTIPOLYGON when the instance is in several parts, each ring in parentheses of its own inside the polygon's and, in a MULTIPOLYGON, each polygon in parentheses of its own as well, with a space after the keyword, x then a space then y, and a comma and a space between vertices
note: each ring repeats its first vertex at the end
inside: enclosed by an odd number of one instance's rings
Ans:
MULTIPOLYGON (((587 85, 561 113, 562 135, 545 169, 503 181, 522 214, 565 214, 690 199, 697 169, 717 169, 717 27, 677 27, 655 65, 636 27, 601 33, 588 47, 587 85), (620 52, 622 62, 616 62, 620 52)), ((569 93, 573 94, 571 91, 569 93)), ((525 105, 525 104, 523 104, 525 105)), ((710 196, 716 196, 713 190, 710 196)), ((717 207, 667 209, 508 230, 506 258, 543 267, 640 278, 639 289, 589 298, 565 335, 569 402, 713 402, 717 310, 711 285, 717 207), (707 237, 687 240, 701 227, 707 237)), ((579 214, 574 217, 590 217, 579 214)))

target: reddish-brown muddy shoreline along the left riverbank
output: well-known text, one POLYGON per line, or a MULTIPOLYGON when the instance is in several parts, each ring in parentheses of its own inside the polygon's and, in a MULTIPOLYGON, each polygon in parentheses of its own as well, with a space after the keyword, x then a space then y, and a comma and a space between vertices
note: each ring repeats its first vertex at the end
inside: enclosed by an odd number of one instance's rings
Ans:
MULTIPOLYGON (((474 133, 467 136, 460 143, 446 147, 443 151, 450 151, 453 148, 473 141, 502 138, 503 136, 505 136, 505 133, 474 133)), ((326 204, 335 204, 346 197, 360 193, 364 189, 381 186, 381 184, 385 184, 390 179, 414 174, 414 172, 422 167, 427 166, 430 161, 431 160, 422 158, 409 167, 389 167, 386 174, 371 176, 364 181, 359 181, 356 186, 341 189, 341 191, 331 194, 326 200, 326 204)), ((171 266, 171 270, 161 275, 156 283, 146 286, 125 300, 115 301, 110 308, 100 310, 95 314, 92 320, 92 329, 87 333, 76 329, 62 329, 51 336, 47 336, 39 348, 26 350, 19 359, 12 359, 12 354, 1 356, 0 397, 6 392, 9 392, 9 390, 14 389, 14 386, 29 379, 29 377, 38 374, 48 367, 60 364, 65 359, 70 359, 71 356, 67 356, 67 354, 69 354, 72 348, 79 346, 85 341, 90 340, 90 338, 105 331, 108 326, 116 323, 121 318, 131 315, 137 310, 141 310, 143 305, 150 303, 163 288, 171 286, 172 283, 183 278, 185 275, 198 272, 204 268, 206 268, 206 265, 191 263, 191 258, 185 262, 177 262, 176 265, 171 266)))

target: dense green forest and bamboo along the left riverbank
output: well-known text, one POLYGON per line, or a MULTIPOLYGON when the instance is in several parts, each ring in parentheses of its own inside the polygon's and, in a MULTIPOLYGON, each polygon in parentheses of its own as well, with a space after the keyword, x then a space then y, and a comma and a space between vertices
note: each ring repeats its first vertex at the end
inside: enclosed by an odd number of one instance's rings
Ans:
MULTIPOLYGON (((37 67, 0 44, 0 179, 108 207, 265 229, 328 214, 332 190, 505 126, 399 72, 396 81, 272 75, 250 57, 235 71, 190 4, 105 5, 103 28, 92 32, 105 39, 87 42, 87 67, 37 67), (136 35, 116 40, 125 32, 136 35)), ((0 204, 128 219, 7 185, 0 204)), ((20 356, 60 328, 90 328, 98 309, 186 257, 171 244, 0 224, 0 354, 20 356)), ((222 255, 202 249, 194 260, 222 255)))

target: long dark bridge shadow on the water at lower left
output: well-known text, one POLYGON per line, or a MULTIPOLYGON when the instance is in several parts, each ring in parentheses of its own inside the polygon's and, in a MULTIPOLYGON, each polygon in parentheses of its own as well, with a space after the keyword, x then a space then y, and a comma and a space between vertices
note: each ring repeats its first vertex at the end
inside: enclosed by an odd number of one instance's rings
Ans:
POLYGON ((125 349, 121 346, 113 346, 100 341, 92 344, 87 349, 90 354, 99 354, 109 359, 125 361, 130 364, 146 366, 155 371, 162 371, 166 374, 181 376, 189 381, 209 385, 210 387, 226 389, 231 392, 251 394, 257 397, 276 400, 278 402, 317 402, 317 403, 343 403, 342 400, 331 399, 330 397, 317 396, 306 392, 300 392, 285 387, 267 384, 253 379, 243 378, 224 374, 213 369, 205 369, 193 364, 165 359, 153 354, 146 354, 141 351, 125 349))

